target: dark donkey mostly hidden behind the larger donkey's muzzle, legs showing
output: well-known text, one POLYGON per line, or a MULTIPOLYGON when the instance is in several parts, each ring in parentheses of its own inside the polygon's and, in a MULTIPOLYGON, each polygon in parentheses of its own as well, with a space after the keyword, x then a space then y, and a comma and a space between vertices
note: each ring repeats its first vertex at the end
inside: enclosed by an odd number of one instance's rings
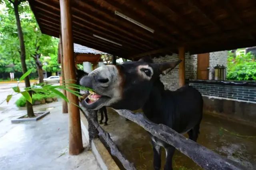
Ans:
MULTIPOLYGON (((80 79, 83 77, 83 76, 87 76, 88 73, 87 72, 84 72, 83 70, 79 70, 76 68, 76 84, 79 84, 80 82, 80 79)), ((81 98, 79 98, 79 100, 84 100, 86 97, 88 97, 89 95, 89 92, 87 91, 85 94, 82 95, 81 98)), ((104 122, 104 125, 108 125, 108 114, 107 114, 107 109, 105 106, 103 106, 102 108, 98 109, 100 111, 100 124, 102 124, 102 121, 104 119, 104 115, 105 115, 105 122, 104 122), (103 115, 104 113, 104 115, 103 115)))

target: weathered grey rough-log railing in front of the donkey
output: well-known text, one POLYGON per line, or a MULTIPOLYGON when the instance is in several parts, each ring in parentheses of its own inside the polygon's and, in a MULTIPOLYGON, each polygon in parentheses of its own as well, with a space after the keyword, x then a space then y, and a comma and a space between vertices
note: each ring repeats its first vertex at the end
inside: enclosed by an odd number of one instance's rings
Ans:
MULTIPOLYGON (((88 115, 96 114, 95 111, 88 111, 88 115)), ((237 162, 234 162, 228 158, 220 156, 219 154, 213 152, 202 145, 187 139, 183 135, 177 133, 170 127, 163 124, 156 124, 148 120, 143 113, 132 113, 129 110, 116 110, 116 112, 137 123, 143 127, 146 131, 152 135, 158 137, 162 141, 174 146, 177 150, 188 156, 196 164, 206 170, 246 170, 244 166, 237 162)), ((86 115, 86 114, 85 114, 86 115)), ((98 124, 98 120, 92 120, 90 116, 88 117, 93 125, 98 129, 99 135, 103 137, 107 145, 111 149, 111 154, 116 156, 126 169, 135 169, 133 164, 130 163, 125 156, 118 150, 117 146, 114 144, 110 135, 106 133, 98 124)))

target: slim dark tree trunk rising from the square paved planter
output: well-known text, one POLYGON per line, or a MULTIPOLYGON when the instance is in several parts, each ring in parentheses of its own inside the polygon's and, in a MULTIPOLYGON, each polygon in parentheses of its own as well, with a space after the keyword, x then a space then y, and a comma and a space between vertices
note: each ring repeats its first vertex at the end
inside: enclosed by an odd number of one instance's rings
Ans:
MULTIPOLYGON (((16 18, 16 24, 17 24, 17 30, 18 30, 18 37, 20 40, 20 61, 22 65, 22 72, 23 74, 28 71, 27 66, 26 66, 26 52, 25 52, 25 44, 24 44, 24 38, 23 38, 23 33, 22 33, 22 28, 20 25, 20 15, 18 11, 18 0, 15 0, 14 3, 14 12, 15 12, 15 18, 16 18)), ((26 87, 30 87, 30 81, 29 81, 29 76, 26 76, 25 78, 25 85, 26 87)), ((31 91, 28 91, 30 96, 32 97, 31 91)), ((33 111, 33 106, 30 102, 26 100, 26 107, 27 107, 27 114, 28 117, 33 117, 34 111, 33 111)))

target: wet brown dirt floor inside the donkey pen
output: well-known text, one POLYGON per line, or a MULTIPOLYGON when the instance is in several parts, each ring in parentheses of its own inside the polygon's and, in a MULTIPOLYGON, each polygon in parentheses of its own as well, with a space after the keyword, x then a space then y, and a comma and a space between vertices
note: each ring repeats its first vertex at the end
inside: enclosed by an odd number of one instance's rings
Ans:
MULTIPOLYGON (((98 113, 98 119, 100 114, 98 113)), ((153 150, 150 137, 142 127, 132 121, 126 121, 108 108, 108 125, 102 125, 110 133, 118 148, 138 170, 153 170, 153 150)), ((188 135, 185 135, 188 137, 188 135)), ((256 167, 256 129, 230 122, 211 115, 204 115, 200 126, 198 143, 214 150, 218 154, 240 162, 248 169, 256 167)), ((165 151, 162 149, 162 167, 165 151)), ((200 170, 187 156, 175 151, 174 170, 200 170)))

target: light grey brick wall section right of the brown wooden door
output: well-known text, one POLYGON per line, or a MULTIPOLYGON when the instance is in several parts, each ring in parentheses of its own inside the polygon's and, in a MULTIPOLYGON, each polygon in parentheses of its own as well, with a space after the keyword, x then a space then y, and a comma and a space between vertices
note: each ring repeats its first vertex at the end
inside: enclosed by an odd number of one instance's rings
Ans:
POLYGON ((228 51, 217 51, 210 53, 209 59, 209 80, 214 80, 214 67, 219 65, 224 65, 227 67, 228 63, 228 51))

